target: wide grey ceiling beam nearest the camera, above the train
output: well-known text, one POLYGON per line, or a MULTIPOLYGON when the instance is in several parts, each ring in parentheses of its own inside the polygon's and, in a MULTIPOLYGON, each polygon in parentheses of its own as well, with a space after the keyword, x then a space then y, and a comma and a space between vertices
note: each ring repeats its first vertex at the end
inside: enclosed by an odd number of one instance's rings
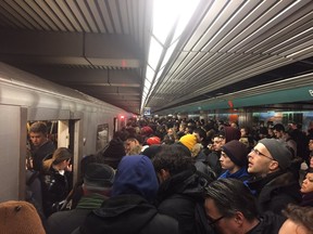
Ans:
POLYGON ((143 53, 127 35, 0 30, 3 62, 138 68, 143 53))

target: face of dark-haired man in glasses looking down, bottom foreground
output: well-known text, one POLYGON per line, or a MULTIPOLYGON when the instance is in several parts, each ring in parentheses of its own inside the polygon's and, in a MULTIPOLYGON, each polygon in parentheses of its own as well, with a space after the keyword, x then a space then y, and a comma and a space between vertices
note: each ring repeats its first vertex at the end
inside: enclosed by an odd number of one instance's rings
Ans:
POLYGON ((205 214, 209 224, 220 234, 238 233, 238 225, 234 218, 223 217, 211 198, 205 198, 204 202, 205 214))

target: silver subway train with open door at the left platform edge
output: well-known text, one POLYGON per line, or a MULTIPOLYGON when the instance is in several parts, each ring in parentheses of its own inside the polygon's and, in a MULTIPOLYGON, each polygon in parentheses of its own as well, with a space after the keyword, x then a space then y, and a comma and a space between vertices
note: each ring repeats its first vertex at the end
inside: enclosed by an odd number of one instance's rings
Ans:
POLYGON ((75 181, 80 158, 105 146, 114 131, 134 117, 77 90, 3 63, 0 63, 0 202, 24 198, 27 127, 32 122, 47 122, 58 147, 73 152, 75 181))

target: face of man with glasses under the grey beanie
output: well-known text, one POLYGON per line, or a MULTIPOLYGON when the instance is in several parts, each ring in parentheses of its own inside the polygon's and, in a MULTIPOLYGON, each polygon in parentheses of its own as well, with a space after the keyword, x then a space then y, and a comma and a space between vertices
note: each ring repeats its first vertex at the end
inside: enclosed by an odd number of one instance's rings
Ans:
POLYGON ((248 155, 248 172, 256 176, 264 176, 270 172, 273 158, 267 148, 258 143, 248 155), (258 154, 259 153, 259 154, 258 154))

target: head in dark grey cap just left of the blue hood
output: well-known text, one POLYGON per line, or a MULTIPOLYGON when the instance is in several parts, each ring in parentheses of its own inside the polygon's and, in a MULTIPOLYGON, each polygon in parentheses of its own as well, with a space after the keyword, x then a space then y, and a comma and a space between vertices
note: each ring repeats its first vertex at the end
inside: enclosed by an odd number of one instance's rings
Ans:
POLYGON ((83 183, 85 195, 90 193, 109 195, 114 178, 115 171, 108 165, 97 162, 87 165, 83 183))

